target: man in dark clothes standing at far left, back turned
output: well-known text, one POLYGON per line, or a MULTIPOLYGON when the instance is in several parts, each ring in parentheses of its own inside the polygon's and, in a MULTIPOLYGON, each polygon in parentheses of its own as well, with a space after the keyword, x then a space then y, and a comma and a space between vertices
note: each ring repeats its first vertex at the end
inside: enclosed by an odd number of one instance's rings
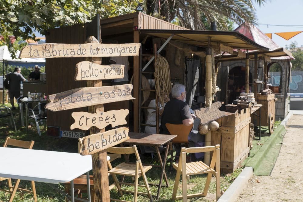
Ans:
POLYGON ((22 76, 20 72, 21 68, 16 67, 14 72, 5 75, 5 78, 9 81, 8 94, 13 110, 16 109, 14 106, 14 97, 15 99, 20 98, 20 81, 26 81, 26 79, 22 76))

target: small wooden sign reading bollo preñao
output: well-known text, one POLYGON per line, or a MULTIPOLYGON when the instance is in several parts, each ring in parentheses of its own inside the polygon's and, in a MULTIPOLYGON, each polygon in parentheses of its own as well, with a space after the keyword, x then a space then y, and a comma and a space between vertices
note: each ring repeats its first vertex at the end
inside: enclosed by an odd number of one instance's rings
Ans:
POLYGON ((90 61, 76 65, 75 81, 116 79, 124 77, 124 65, 98 65, 90 61))

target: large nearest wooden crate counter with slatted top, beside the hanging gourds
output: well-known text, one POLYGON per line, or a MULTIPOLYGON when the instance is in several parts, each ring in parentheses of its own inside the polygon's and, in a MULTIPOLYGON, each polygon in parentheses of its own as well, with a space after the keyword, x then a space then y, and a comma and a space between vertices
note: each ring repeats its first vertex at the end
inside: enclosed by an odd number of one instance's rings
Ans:
POLYGON ((250 121, 250 108, 226 112, 226 116, 217 120, 220 127, 211 132, 211 145, 220 144, 221 172, 233 173, 247 158, 250 121))

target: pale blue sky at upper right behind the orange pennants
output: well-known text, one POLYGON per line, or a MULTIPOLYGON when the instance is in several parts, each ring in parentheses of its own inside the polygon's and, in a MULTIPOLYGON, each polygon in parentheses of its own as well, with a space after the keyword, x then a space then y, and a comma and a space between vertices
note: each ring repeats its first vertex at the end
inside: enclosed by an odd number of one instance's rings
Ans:
MULTIPOLYGON (((271 0, 259 7, 255 5, 258 24, 263 33, 303 31, 303 0, 271 0), (271 25, 301 25, 294 27, 271 26, 271 25)), ((281 47, 289 45, 291 41, 297 41, 298 46, 303 45, 303 32, 289 39, 273 34, 272 40, 281 47)))

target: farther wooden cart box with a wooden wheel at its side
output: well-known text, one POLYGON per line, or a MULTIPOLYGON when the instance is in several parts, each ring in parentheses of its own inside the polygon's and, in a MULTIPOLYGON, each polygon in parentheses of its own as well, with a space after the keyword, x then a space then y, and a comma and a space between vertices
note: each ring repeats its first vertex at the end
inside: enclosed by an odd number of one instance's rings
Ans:
MULTIPOLYGON (((271 114, 275 121, 275 94, 259 95, 257 96, 257 103, 262 104, 261 107, 261 126, 268 126, 268 118, 271 114)), ((260 111, 255 112, 256 115, 260 114, 260 111)), ((252 118, 256 120, 259 125, 259 118, 252 114, 252 118)))

